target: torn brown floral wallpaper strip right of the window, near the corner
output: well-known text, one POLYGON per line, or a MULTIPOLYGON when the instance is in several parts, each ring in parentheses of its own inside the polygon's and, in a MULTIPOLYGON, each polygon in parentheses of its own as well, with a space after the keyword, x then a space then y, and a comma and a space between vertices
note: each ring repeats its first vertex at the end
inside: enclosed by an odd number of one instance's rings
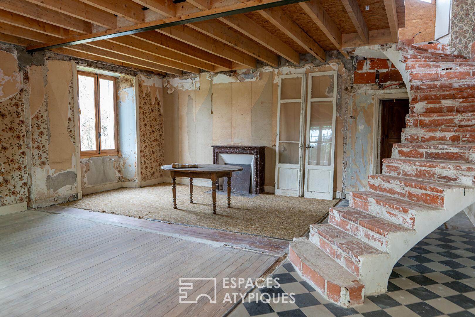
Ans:
POLYGON ((152 93, 142 80, 139 84, 139 134, 141 181, 163 177, 163 115, 159 96, 152 93))

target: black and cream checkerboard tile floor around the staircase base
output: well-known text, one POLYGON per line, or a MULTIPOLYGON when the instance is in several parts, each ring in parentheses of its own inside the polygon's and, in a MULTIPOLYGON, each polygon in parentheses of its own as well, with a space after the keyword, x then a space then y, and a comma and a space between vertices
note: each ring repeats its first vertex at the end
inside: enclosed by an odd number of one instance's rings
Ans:
POLYGON ((230 317, 475 317, 475 232, 439 227, 393 268, 388 292, 342 308, 325 300, 288 260, 277 270, 280 288, 253 292, 295 293, 295 303, 244 300, 230 317))

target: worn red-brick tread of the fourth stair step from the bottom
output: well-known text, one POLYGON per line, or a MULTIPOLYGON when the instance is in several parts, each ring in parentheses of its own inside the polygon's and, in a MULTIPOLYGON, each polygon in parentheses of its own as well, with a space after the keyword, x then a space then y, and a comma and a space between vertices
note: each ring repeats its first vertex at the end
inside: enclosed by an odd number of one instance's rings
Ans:
POLYGON ((351 194, 354 195, 356 199, 363 199, 366 201, 372 200, 380 206, 389 207, 393 210, 412 215, 419 212, 430 212, 435 210, 443 211, 442 208, 428 206, 418 202, 412 202, 406 199, 384 195, 379 192, 361 191, 352 192, 351 194))

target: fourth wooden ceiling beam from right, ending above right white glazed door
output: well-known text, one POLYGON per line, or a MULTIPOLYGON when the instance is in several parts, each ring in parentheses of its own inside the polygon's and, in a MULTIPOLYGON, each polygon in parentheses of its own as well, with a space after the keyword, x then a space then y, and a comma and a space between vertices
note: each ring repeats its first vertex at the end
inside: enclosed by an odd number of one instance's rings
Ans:
POLYGON ((292 38, 307 52, 318 58, 321 62, 326 61, 326 52, 313 38, 309 37, 281 8, 271 8, 257 11, 274 24, 278 29, 292 38))

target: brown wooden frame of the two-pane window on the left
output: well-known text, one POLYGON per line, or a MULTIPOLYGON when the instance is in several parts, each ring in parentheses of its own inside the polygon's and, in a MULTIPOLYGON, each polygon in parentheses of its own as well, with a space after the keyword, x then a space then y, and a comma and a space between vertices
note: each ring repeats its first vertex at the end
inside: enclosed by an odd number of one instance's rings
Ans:
MULTIPOLYGON (((105 76, 95 73, 88 73, 83 71, 77 71, 77 96, 79 98, 79 76, 93 77, 94 78, 94 103, 95 103, 95 150, 80 151, 80 157, 96 157, 96 156, 113 156, 119 154, 119 134, 117 125, 117 82, 116 78, 112 76, 105 76), (101 150, 101 116, 100 116, 100 96, 99 96, 99 79, 111 80, 114 83, 114 149, 101 150)), ((81 105, 79 104, 79 109, 81 105)), ((80 110, 79 110, 80 113, 80 110)), ((79 147, 81 147, 81 115, 79 115, 79 147)))

